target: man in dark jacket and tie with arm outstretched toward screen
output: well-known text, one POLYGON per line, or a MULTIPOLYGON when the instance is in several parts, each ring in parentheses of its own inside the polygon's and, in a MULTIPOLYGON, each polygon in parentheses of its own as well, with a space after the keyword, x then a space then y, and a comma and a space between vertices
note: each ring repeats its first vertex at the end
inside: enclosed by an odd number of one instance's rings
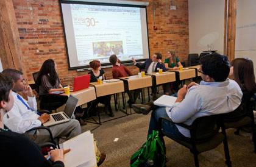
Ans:
MULTIPOLYGON (((145 73, 151 74, 154 72, 158 72, 159 69, 162 69, 164 72, 166 71, 165 64, 162 62, 162 54, 155 53, 152 56, 152 59, 146 59, 144 63, 137 63, 135 59, 132 59, 135 66, 140 68, 141 71, 145 71, 145 73)), ((169 94, 170 88, 169 84, 163 85, 163 91, 165 94, 169 94)), ((153 100, 157 99, 157 87, 156 85, 152 86, 152 94, 153 100)))

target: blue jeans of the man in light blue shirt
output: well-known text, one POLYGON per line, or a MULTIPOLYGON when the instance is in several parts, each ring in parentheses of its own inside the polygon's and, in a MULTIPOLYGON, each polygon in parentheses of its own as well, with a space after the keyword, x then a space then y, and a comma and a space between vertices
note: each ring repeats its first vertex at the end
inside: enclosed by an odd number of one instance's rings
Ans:
POLYGON ((179 140, 189 140, 190 138, 187 138, 182 135, 182 133, 179 132, 177 129, 176 125, 174 123, 171 123, 169 121, 163 121, 162 123, 159 123, 158 120, 160 117, 168 117, 165 110, 165 107, 158 107, 155 108, 155 110, 151 114, 151 119, 149 123, 149 131, 148 131, 148 136, 152 133, 153 130, 158 130, 160 133, 160 138, 163 140, 163 135, 162 135, 162 129, 166 133, 167 136, 171 136, 174 138, 177 138, 179 140))

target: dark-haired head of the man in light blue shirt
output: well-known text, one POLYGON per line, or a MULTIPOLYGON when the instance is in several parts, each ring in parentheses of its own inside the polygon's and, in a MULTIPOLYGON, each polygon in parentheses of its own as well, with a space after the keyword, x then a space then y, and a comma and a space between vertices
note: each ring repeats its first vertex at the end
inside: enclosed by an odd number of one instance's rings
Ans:
POLYGON ((206 82, 223 82, 229 76, 229 59, 218 53, 205 55, 201 60, 202 79, 206 82))

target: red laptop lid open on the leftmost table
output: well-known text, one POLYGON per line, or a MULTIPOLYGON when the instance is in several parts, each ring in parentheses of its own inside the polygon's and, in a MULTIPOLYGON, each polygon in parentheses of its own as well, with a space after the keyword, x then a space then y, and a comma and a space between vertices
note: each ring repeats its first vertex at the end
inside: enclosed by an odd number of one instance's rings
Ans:
POLYGON ((90 74, 85 74, 83 76, 74 77, 74 88, 73 88, 73 91, 77 91, 77 90, 82 90, 84 88, 88 88, 89 87, 89 83, 90 83, 90 78, 91 78, 90 74))

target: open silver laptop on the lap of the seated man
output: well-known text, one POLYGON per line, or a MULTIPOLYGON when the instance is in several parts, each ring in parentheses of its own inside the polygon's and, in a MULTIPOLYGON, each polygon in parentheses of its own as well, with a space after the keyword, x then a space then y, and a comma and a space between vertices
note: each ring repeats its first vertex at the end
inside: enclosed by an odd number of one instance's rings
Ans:
POLYGON ((55 124, 61 124, 70 121, 74 111, 76 110, 77 103, 78 99, 70 95, 68 101, 66 101, 64 111, 50 114, 50 119, 44 123, 43 126, 54 126, 55 124))

